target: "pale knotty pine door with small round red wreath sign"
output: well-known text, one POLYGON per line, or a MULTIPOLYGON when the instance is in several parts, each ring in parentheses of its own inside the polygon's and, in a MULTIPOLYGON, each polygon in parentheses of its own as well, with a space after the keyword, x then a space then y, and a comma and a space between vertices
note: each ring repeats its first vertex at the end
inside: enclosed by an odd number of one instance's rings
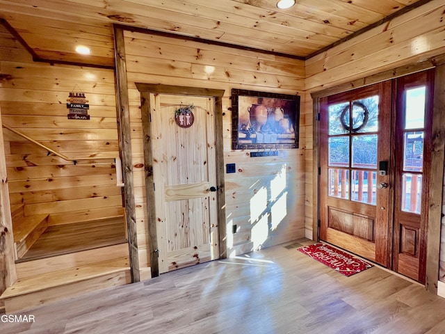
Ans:
POLYGON ((159 273, 165 273, 219 257, 215 101, 149 99, 159 273), (192 114, 177 122, 184 106, 193 106, 192 114))

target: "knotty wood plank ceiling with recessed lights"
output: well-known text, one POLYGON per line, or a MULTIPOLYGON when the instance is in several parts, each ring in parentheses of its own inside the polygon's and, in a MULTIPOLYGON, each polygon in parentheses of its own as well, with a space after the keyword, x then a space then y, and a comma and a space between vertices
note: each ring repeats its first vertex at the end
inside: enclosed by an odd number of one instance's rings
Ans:
POLYGON ((309 58, 426 0, 0 0, 36 60, 113 66, 113 24, 309 58), (82 56, 76 45, 90 47, 82 56))

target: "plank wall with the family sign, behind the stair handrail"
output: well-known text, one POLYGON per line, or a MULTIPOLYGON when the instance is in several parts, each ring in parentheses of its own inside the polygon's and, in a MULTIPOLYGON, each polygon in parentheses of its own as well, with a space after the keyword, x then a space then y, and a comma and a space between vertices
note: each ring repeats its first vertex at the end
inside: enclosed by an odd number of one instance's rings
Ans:
POLYGON ((52 225, 122 216, 114 71, 35 63, 2 26, 0 68, 3 124, 67 157, 90 158, 74 165, 2 129, 11 205, 51 214, 52 225), (70 91, 86 94, 90 120, 67 119, 70 91))

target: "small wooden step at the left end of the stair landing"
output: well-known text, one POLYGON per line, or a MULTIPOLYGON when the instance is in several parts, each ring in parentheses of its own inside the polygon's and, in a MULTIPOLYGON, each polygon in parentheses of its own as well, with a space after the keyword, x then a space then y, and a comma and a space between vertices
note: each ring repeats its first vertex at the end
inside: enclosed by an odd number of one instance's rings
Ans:
POLYGON ((48 226, 48 215, 37 214, 24 216, 19 221, 13 221, 14 245, 17 259, 23 257, 42 235, 48 226))

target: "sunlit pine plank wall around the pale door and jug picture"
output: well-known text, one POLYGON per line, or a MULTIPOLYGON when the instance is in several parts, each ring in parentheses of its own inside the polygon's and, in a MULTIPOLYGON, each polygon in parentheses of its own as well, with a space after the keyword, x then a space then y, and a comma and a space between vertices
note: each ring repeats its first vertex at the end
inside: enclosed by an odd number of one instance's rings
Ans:
POLYGON ((304 237, 305 118, 301 118, 300 149, 282 150, 279 157, 250 158, 248 151, 231 150, 232 113, 229 110, 232 88, 301 95, 304 88, 304 62, 140 32, 124 31, 124 40, 141 279, 145 277, 144 272, 149 270, 149 256, 140 94, 135 82, 225 90, 224 159, 225 164, 236 164, 236 173, 225 175, 229 255, 304 237), (255 205, 261 210, 257 216, 253 216, 250 206, 253 205, 255 194, 261 191, 270 193, 270 183, 273 180, 278 182, 279 179, 285 184, 280 203, 277 204, 277 198, 266 198, 264 202, 259 200, 255 205), (275 213, 278 205, 283 205, 282 216, 275 213), (257 222, 261 219, 261 223, 264 223, 270 214, 279 219, 275 219, 277 226, 268 231, 266 227, 266 237, 255 239, 252 232, 255 224, 259 226, 257 222), (236 234, 232 234, 232 223, 238 225, 236 234))

